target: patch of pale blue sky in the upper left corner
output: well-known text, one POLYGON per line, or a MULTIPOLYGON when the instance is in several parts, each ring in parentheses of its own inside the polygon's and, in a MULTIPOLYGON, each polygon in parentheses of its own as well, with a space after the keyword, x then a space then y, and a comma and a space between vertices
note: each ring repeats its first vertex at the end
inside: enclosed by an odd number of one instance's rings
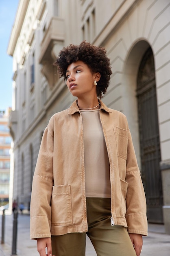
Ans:
POLYGON ((12 106, 12 57, 7 54, 19 0, 0 0, 0 110, 12 106))

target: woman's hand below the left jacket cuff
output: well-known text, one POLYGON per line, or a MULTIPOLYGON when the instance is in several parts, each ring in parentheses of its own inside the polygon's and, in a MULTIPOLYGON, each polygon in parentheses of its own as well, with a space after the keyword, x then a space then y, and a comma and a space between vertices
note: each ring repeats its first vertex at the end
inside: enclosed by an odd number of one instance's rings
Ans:
POLYGON ((37 238, 37 251, 40 256, 52 256, 51 238, 37 238))

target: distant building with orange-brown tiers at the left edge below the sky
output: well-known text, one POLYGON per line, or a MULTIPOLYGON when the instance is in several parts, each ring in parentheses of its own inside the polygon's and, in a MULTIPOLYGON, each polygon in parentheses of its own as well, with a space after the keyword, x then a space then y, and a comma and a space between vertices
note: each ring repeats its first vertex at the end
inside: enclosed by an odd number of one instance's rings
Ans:
POLYGON ((9 204, 11 135, 8 127, 9 110, 0 111, 0 207, 9 204))

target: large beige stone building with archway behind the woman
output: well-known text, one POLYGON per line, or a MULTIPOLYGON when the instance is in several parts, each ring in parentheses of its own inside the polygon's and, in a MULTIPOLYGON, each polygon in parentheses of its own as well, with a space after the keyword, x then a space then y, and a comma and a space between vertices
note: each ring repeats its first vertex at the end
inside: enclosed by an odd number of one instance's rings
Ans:
POLYGON ((8 46, 14 196, 29 204, 43 131, 74 100, 52 63, 82 40, 107 49, 113 74, 103 101, 127 116, 148 221, 170 233, 169 0, 20 0, 8 46))

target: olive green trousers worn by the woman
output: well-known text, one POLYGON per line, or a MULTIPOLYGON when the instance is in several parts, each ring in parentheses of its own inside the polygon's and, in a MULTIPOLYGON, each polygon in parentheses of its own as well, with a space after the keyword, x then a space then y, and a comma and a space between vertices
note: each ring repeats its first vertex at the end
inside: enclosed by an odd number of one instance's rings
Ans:
POLYGON ((136 256, 127 229, 111 226, 110 198, 87 198, 87 233, 52 236, 52 255, 85 256, 86 235, 97 256, 136 256))

